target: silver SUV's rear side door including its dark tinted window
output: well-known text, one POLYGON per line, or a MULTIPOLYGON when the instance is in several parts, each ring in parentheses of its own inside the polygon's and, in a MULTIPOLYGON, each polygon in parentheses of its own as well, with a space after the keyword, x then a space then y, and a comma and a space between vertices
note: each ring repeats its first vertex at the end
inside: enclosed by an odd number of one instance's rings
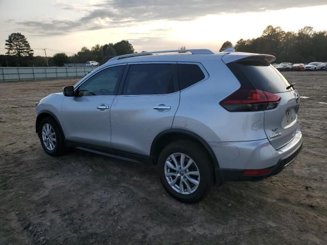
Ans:
POLYGON ((149 155, 155 136, 170 129, 179 105, 176 62, 128 65, 110 110, 116 150, 149 155))

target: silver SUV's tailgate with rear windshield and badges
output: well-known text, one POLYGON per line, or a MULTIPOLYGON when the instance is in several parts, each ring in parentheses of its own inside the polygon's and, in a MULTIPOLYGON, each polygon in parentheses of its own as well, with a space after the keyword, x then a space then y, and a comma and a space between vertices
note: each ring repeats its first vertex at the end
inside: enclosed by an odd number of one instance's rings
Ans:
POLYGON ((251 83, 255 89, 267 91, 281 97, 275 109, 264 110, 264 130, 275 149, 291 141, 299 130, 297 114, 299 94, 286 78, 269 62, 262 62, 258 56, 247 57, 227 64, 242 84, 251 83))

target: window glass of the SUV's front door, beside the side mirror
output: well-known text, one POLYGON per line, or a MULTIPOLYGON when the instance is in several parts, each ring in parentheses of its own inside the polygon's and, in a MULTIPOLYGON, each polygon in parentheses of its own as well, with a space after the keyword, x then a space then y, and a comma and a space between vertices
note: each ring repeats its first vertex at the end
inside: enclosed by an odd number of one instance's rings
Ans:
POLYGON ((114 95, 124 66, 113 66, 99 71, 78 89, 78 96, 114 95))

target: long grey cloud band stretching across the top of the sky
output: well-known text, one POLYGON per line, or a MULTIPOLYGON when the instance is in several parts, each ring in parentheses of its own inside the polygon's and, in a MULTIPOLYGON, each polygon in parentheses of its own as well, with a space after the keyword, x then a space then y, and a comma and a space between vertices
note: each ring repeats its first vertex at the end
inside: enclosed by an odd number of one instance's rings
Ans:
POLYGON ((221 13, 244 13, 279 10, 292 7, 325 5, 325 0, 104 0, 87 6, 74 6, 65 1, 56 5, 66 11, 83 11, 76 20, 27 20, 16 22, 34 35, 64 35, 76 31, 133 26, 150 20, 193 20, 221 13))

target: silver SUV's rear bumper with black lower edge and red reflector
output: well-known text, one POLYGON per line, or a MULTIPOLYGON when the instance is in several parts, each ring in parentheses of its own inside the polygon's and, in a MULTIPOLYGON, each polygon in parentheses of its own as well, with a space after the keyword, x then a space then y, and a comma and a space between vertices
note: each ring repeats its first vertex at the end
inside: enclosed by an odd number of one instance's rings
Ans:
POLYGON ((224 181, 260 180, 278 174, 292 162, 302 149, 302 134, 298 128, 293 139, 275 150, 268 139, 211 144, 224 181), (262 175, 246 175, 249 170, 262 175), (244 173, 247 171, 247 173, 244 173))

